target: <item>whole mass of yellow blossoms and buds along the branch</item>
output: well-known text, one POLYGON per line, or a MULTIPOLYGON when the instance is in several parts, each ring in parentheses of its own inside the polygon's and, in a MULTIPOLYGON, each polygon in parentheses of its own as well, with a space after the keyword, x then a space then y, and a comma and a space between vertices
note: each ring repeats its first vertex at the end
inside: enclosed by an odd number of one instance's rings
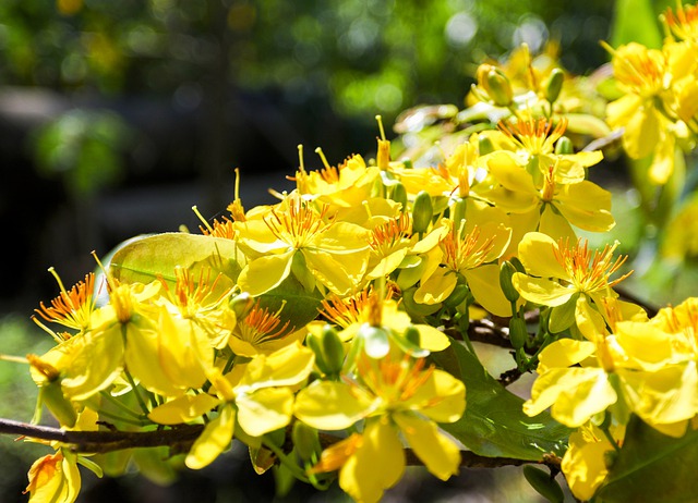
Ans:
MULTIPOLYGON (((337 480, 375 502, 408 449, 442 480, 464 444, 480 453, 453 346, 474 354, 471 321, 486 318, 504 324, 515 370, 538 371, 524 413, 551 408, 574 430, 550 441, 568 445, 557 464, 573 492, 592 498, 607 453, 633 442, 633 417, 670 438, 698 428, 698 300, 649 317, 614 290, 631 272, 618 243, 578 237, 615 225, 611 193, 588 175, 603 154, 570 138, 623 127, 628 156, 652 156, 653 183, 666 183, 677 142, 698 132, 694 10, 667 11, 662 50, 611 49, 623 97, 607 124, 588 82, 524 47, 480 66, 458 133, 428 154, 392 148, 378 119, 375 159, 330 165, 318 149, 310 170, 299 148, 296 187, 274 205, 245 210, 236 185, 228 214, 202 219, 201 233, 128 242, 70 290, 51 270, 60 294, 35 321, 56 346, 26 357, 37 410, 71 431, 196 426, 172 452, 189 468, 237 439, 257 473, 337 480)), ((52 446, 27 491, 72 502, 77 464, 99 467, 52 446)))

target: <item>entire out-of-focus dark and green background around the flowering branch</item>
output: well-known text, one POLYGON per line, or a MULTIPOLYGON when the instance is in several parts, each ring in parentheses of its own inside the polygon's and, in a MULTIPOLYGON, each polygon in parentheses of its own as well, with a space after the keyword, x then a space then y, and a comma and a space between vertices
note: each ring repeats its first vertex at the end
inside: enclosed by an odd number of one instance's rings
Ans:
MULTIPOLYGON (((286 174, 358 152, 420 103, 462 107, 477 65, 526 42, 557 44, 587 74, 607 61, 616 8, 633 0, 2 0, 0 2, 1 352, 50 345, 29 321, 57 293, 141 233, 196 229, 233 197, 248 207, 286 174)), ((660 12, 669 2, 654 2, 660 12)), ((388 137, 392 134, 388 131, 388 137)), ((0 416, 32 417, 26 368, 0 361, 0 416)), ((0 438, 0 501, 21 495, 46 451, 0 438), (17 449, 21 447, 21 449, 17 449), (31 449, 28 449, 31 447, 31 449)), ((163 488, 85 476, 82 501, 270 501, 233 450, 163 488), (249 489, 250 488, 250 489, 249 489), (257 492, 254 492, 257 491, 257 492)), ((417 474, 386 501, 535 501, 516 468, 436 486, 417 474), (476 492, 472 492, 472 490, 476 492), (476 494, 476 495, 472 495, 476 494), (478 499, 480 498, 480 499, 478 499)), ((161 480, 169 475, 163 475, 161 480)), ((288 501, 325 501, 302 490, 288 501)), ((338 501, 332 495, 330 501, 338 501)))

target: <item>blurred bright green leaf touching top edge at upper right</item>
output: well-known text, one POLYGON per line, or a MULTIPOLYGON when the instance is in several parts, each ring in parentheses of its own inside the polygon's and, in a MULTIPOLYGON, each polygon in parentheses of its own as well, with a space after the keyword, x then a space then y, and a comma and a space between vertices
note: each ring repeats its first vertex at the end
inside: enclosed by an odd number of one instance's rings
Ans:
POLYGON ((651 0, 618 0, 611 33, 613 47, 630 41, 652 49, 662 47, 662 34, 651 0))

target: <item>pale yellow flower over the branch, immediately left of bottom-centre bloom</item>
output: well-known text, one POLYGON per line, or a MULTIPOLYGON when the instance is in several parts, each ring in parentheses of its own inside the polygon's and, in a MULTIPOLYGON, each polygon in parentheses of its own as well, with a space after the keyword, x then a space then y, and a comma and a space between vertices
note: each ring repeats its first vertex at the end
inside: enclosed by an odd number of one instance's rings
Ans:
POLYGON ((214 368, 208 378, 217 396, 182 395, 154 408, 148 417, 161 425, 179 425, 218 407, 218 415, 206 424, 186 455, 186 466, 200 469, 227 449, 236 424, 251 437, 287 426, 293 413, 291 387, 308 378, 313 364, 313 352, 296 342, 269 355, 257 355, 249 364, 236 365, 225 376, 214 368))

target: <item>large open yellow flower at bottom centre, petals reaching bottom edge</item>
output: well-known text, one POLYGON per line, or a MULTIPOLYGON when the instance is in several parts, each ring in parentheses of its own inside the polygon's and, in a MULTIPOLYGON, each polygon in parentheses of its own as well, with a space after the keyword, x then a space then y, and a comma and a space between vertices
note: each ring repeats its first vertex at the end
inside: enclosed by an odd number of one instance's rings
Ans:
POLYGON ((442 480, 458 473, 458 446, 436 422, 453 422, 466 406, 465 385, 423 358, 363 356, 357 383, 316 381, 301 390, 296 416, 317 429, 341 430, 366 418, 363 432, 330 447, 315 471, 339 468, 339 484, 357 501, 378 501, 405 471, 401 434, 442 480), (332 459, 332 462, 330 462, 332 459))

